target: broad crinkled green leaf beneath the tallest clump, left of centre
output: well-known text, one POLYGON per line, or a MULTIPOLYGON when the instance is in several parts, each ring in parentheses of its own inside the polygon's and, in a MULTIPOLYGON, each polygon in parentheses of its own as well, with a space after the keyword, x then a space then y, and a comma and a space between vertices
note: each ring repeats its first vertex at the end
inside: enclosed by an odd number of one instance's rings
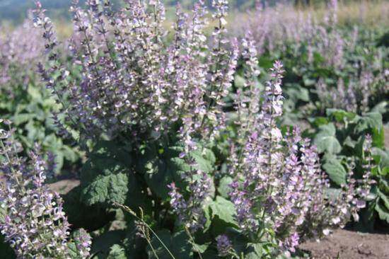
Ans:
POLYGON ((124 204, 127 198, 128 176, 124 173, 98 175, 91 183, 83 186, 81 199, 87 205, 117 202, 124 204))

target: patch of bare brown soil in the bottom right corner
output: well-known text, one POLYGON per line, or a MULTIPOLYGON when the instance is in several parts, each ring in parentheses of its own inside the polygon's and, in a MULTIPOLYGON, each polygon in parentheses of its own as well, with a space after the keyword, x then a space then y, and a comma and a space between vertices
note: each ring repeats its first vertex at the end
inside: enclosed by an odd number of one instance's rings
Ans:
POLYGON ((308 241, 300 248, 308 251, 312 259, 385 259, 389 258, 389 235, 337 229, 320 243, 308 241))

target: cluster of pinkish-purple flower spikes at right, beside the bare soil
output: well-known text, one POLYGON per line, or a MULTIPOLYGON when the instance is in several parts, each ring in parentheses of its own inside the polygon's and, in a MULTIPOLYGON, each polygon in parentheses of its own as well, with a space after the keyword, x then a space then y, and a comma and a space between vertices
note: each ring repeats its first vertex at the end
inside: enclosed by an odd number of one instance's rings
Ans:
POLYGON ((328 200, 329 182, 320 170, 315 146, 297 128, 282 136, 277 126, 282 113, 282 73, 281 62, 275 62, 260 112, 243 144, 242 159, 236 162, 239 166, 231 166, 235 181, 230 195, 240 229, 253 242, 271 239, 272 231, 267 229, 274 229, 279 250, 294 252, 304 238, 344 226, 350 215, 364 207, 365 197, 359 195, 350 173, 338 197, 328 200))

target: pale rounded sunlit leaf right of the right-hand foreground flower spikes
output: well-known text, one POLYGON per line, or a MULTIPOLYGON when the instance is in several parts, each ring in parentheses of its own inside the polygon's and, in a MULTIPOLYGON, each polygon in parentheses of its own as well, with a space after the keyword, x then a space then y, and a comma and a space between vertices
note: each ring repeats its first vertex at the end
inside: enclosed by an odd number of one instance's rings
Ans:
POLYGON ((319 127, 319 132, 316 134, 313 144, 318 147, 320 153, 338 154, 342 150, 342 146, 335 137, 335 132, 335 125, 332 123, 319 127))

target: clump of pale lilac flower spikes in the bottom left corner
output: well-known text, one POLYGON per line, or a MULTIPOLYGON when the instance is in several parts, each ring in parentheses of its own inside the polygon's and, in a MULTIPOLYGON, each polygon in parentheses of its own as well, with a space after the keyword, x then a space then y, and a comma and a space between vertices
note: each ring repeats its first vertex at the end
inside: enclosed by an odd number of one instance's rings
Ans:
MULTIPOLYGON (((9 124, 9 122, 7 122, 9 124)), ((5 209, 0 231, 18 258, 69 258, 69 222, 63 201, 45 185, 52 170, 39 154, 39 146, 28 154, 29 161, 18 157, 21 146, 12 139, 13 129, 0 129, 1 207, 5 209)), ((89 245, 80 248, 88 256, 89 245)))

